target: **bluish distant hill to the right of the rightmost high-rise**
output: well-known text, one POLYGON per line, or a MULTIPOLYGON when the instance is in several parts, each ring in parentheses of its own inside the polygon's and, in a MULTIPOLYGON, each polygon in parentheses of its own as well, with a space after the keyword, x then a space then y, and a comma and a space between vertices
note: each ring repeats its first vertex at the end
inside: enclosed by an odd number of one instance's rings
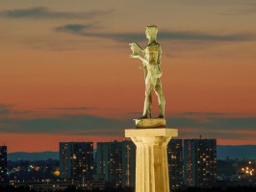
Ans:
POLYGON ((239 159, 250 159, 256 160, 256 145, 218 145, 217 146, 217 158, 226 159, 229 158, 239 158, 239 159))

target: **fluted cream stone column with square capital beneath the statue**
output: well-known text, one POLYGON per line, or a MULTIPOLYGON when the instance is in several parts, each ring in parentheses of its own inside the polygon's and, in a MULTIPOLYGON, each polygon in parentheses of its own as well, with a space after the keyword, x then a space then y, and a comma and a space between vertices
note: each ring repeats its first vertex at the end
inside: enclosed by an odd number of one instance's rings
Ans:
MULTIPOLYGON (((152 126, 155 123, 159 125, 160 122, 155 121, 156 119, 143 119, 141 126, 152 126)), ((178 136, 178 131, 146 127, 125 130, 125 136, 131 137, 137 146, 136 192, 169 192, 166 145, 171 137, 178 136)))

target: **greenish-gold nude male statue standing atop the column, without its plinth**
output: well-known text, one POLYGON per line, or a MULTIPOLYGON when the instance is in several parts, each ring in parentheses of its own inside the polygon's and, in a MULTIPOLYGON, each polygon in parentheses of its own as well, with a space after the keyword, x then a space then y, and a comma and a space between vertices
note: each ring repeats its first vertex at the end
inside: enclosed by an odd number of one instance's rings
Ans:
POLYGON ((152 90, 155 91, 158 97, 159 116, 157 118, 165 118, 166 100, 162 91, 160 69, 162 48, 157 42, 156 37, 158 33, 157 26, 147 26, 145 36, 148 39, 148 45, 141 50, 136 43, 131 43, 133 54, 131 58, 140 59, 143 62, 145 73, 145 100, 141 119, 151 118, 152 116, 152 90))

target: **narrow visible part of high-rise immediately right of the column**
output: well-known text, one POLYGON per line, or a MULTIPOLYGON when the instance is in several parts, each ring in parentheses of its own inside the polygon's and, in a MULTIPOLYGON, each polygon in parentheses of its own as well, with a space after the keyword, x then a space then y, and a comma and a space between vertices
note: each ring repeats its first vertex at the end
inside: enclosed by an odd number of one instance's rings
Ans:
POLYGON ((167 145, 170 191, 181 189, 183 184, 182 139, 171 139, 167 145))

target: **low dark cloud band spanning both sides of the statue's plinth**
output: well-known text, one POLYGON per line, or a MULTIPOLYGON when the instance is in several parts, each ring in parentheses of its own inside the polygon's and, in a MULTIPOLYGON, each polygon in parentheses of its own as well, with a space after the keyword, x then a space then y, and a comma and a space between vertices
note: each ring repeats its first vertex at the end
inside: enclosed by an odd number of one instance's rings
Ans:
MULTIPOLYGON (((1 105, 1 108, 6 107, 1 105)), ((134 114, 134 112, 132 113, 134 114)), ((135 113, 137 114, 137 112, 135 113)), ((168 117, 166 118, 167 127, 178 129, 181 136, 194 137, 202 134, 216 138, 241 138, 241 132, 244 132, 243 137, 245 137, 247 132, 255 132, 256 130, 256 117, 218 116, 214 112, 206 113, 205 116, 202 115, 203 113, 200 114, 200 118, 195 118, 194 115, 168 117), (214 115, 209 115, 210 113, 214 115)), ((124 129, 129 128, 135 128, 132 118, 114 119, 89 114, 59 114, 47 118, 33 118, 33 116, 0 118, 0 132, 121 136, 124 129)))

